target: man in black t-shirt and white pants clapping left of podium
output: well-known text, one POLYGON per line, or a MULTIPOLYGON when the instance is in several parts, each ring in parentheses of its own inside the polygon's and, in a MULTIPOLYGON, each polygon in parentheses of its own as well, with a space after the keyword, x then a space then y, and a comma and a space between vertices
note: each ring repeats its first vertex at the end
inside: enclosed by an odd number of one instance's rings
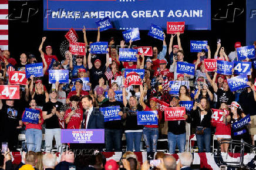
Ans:
POLYGON ((49 93, 50 101, 43 106, 43 120, 45 120, 45 151, 52 149, 52 140, 55 137, 56 147, 60 149, 60 126, 58 118, 63 118, 60 112, 62 103, 57 101, 55 89, 51 89, 49 93))

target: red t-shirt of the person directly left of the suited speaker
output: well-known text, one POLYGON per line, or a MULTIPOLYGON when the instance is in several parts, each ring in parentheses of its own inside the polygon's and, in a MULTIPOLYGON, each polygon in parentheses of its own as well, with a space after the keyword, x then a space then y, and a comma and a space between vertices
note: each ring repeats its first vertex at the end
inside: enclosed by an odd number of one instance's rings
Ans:
MULTIPOLYGON (((66 118, 68 118, 71 111, 72 111, 71 108, 66 110, 65 117, 64 117, 65 120, 66 118)), ((83 110, 78 108, 75 110, 75 114, 73 114, 72 117, 70 118, 67 129, 73 129, 73 128, 79 129, 82 120, 83 120, 83 110)))

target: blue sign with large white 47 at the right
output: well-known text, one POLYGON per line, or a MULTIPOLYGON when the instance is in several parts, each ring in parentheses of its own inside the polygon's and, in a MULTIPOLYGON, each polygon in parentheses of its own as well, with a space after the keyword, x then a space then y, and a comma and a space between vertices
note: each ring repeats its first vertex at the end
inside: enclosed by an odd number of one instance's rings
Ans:
POLYGON ((234 74, 251 75, 251 62, 234 61, 234 74))

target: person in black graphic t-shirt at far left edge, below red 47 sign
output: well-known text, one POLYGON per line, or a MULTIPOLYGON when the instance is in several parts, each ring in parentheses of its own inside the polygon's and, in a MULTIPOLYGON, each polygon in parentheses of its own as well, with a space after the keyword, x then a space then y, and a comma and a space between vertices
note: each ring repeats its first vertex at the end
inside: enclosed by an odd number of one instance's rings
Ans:
POLYGON ((10 151, 14 151, 18 143, 18 129, 22 127, 21 111, 14 100, 0 99, 0 142, 8 142, 10 151))

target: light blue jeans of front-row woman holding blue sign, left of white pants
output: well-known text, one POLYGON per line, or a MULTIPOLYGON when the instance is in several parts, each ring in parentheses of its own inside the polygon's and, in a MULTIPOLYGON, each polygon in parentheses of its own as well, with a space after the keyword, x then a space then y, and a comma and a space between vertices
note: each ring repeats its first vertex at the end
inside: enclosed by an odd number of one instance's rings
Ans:
POLYGON ((25 135, 28 151, 41 152, 42 130, 33 128, 27 129, 25 135))

